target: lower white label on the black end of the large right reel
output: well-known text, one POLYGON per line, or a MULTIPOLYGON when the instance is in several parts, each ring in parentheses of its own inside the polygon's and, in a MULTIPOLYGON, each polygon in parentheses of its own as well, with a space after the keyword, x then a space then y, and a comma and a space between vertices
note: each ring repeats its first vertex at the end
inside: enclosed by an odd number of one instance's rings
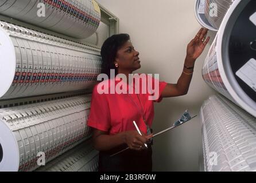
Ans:
POLYGON ((235 74, 256 92, 256 60, 254 58, 251 58, 235 74))

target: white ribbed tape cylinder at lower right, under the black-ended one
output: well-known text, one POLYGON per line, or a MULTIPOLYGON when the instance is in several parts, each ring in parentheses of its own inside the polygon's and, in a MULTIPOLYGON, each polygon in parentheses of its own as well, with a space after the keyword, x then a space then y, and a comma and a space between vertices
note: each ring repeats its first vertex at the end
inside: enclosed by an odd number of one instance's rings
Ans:
POLYGON ((222 96, 204 101, 200 116, 205 171, 256 170, 255 117, 222 96))

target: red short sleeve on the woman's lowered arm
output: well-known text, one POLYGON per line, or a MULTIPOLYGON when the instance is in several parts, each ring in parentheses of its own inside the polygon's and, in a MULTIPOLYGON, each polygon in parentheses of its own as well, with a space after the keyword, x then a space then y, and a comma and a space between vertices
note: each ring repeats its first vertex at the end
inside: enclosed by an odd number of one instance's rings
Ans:
POLYGON ((87 125, 108 132, 110 129, 110 110, 106 94, 99 94, 94 87, 91 98, 91 109, 87 125))

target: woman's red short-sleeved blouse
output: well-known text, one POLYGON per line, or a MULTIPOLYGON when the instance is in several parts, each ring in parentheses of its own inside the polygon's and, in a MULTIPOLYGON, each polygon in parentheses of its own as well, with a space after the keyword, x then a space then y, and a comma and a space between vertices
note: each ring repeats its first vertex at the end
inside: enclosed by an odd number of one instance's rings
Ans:
MULTIPOLYGON (((110 81, 111 80, 108 79, 103 82, 110 83, 110 81)), ((112 81, 114 81, 114 79, 112 81)), ((157 79, 152 78, 153 89, 156 81, 157 79)), ((149 100, 149 96, 153 96, 154 94, 150 94, 148 89, 146 90, 146 94, 142 94, 142 90, 140 90, 139 94, 135 94, 134 87, 133 94, 117 94, 116 92, 115 94, 99 94, 97 87, 103 82, 98 83, 92 92, 91 110, 87 125, 108 132, 109 134, 117 134, 127 130, 136 130, 133 124, 133 121, 135 121, 139 130, 146 134, 147 127, 143 121, 143 117, 145 117, 146 123, 151 127, 154 118, 153 102, 160 102, 162 100, 161 93, 167 83, 159 82, 159 96, 156 100, 149 100)), ((114 82, 115 86, 117 86, 119 82, 123 81, 117 81, 117 79, 115 79, 114 82)), ((139 83, 141 88, 142 82, 139 83)), ((122 84, 127 86, 128 91, 130 85, 125 82, 122 84)), ((110 85, 108 86, 110 87, 110 85)))

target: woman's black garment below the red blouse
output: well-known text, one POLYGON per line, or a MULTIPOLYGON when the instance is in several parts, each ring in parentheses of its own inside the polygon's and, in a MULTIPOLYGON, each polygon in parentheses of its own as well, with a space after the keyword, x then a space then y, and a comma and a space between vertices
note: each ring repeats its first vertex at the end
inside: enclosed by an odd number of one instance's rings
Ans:
POLYGON ((99 152, 99 172, 152 172, 152 148, 136 151, 125 150, 113 157, 111 154, 125 149, 127 146, 119 146, 109 151, 99 152))

